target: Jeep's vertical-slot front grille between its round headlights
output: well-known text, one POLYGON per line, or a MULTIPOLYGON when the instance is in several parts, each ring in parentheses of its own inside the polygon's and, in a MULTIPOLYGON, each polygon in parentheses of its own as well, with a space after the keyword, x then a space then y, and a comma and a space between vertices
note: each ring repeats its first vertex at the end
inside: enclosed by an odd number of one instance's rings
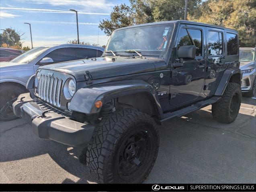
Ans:
POLYGON ((63 79, 41 74, 38 84, 38 96, 42 100, 60 107, 62 86, 63 79))

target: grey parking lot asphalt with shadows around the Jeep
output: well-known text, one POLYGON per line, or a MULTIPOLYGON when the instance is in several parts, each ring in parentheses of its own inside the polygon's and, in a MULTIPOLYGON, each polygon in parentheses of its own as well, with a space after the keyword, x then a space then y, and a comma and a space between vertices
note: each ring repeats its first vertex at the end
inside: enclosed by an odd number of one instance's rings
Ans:
MULTIPOLYGON (((160 149, 145 183, 256 183, 256 100, 231 124, 211 106, 159 126, 160 149)), ((37 138, 23 119, 0 122, 0 183, 95 183, 82 148, 37 138)))

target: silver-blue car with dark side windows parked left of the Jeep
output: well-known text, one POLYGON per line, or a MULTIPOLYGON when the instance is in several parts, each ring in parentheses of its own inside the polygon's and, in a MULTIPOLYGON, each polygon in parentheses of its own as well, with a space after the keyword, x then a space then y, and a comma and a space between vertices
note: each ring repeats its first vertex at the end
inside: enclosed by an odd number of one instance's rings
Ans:
POLYGON ((12 120, 11 106, 16 97, 26 90, 29 77, 40 66, 57 62, 101 56, 102 47, 62 44, 33 48, 10 62, 0 62, 0 120, 12 120))

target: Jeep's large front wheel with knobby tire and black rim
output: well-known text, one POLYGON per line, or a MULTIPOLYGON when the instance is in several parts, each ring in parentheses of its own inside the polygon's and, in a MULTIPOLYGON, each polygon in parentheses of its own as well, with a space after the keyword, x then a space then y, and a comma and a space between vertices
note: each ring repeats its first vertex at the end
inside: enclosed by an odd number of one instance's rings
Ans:
POLYGON ((135 109, 118 110, 96 127, 86 152, 91 175, 101 183, 141 183, 158 154, 154 120, 135 109))

